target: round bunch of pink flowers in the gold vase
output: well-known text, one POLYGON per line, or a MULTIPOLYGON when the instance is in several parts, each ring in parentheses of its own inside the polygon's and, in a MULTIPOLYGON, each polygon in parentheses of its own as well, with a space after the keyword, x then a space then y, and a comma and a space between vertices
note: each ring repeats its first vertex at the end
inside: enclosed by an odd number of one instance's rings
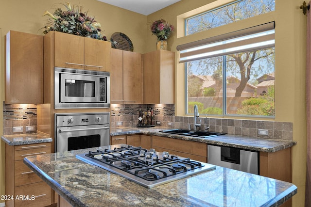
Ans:
POLYGON ((164 19, 159 19, 152 22, 150 31, 157 37, 157 41, 167 40, 173 33, 174 26, 164 19))

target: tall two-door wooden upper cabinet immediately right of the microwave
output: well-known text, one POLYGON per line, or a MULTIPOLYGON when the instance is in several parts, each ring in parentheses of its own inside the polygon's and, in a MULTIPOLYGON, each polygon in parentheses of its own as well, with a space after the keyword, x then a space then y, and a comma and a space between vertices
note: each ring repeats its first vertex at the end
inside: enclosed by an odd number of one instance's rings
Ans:
POLYGON ((142 104, 142 55, 111 50, 110 102, 142 104))

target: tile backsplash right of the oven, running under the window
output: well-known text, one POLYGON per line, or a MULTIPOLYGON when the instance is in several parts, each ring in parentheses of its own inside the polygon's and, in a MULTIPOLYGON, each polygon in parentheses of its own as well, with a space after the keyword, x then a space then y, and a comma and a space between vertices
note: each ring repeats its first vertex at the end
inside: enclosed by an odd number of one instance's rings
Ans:
MULTIPOLYGON (((155 120, 161 122, 161 127, 193 129, 193 117, 175 116, 174 104, 141 105, 142 111, 154 109, 155 120), (172 122, 172 125, 168 125, 172 122)), ((135 127, 138 124, 139 105, 112 105, 111 127, 135 127), (117 123, 121 125, 117 125, 117 123)), ((261 137, 268 139, 293 140, 293 123, 275 121, 256 121, 223 118, 198 118, 201 120, 199 130, 209 127, 210 131, 224 132, 233 135, 261 137), (268 135, 258 135, 258 129, 267 129, 268 135)))

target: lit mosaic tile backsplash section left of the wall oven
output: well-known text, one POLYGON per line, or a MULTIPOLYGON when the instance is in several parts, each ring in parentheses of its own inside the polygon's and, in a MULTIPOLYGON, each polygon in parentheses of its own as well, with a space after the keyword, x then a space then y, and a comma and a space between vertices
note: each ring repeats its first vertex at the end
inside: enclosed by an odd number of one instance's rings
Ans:
POLYGON ((3 135, 34 133, 26 132, 26 126, 37 125, 35 104, 5 104, 3 102, 3 135), (13 127, 23 127, 22 132, 13 133, 13 127))

